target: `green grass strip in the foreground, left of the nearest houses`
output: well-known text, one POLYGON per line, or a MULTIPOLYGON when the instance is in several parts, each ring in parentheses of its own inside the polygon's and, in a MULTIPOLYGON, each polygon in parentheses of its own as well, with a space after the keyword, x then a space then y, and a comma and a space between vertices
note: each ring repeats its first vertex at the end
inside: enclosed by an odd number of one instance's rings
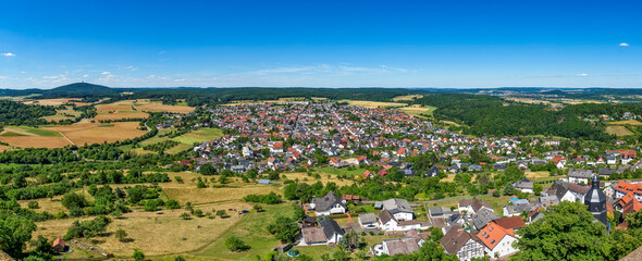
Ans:
MULTIPOLYGON (((224 233, 210 246, 195 253, 186 254, 196 258, 215 257, 222 260, 256 260, 256 256, 263 256, 271 251, 273 247, 280 245, 268 231, 267 226, 272 223, 276 216, 293 216, 294 208, 289 203, 274 206, 263 206, 264 212, 257 213, 251 211, 240 222, 224 233), (225 238, 237 236, 251 248, 245 252, 232 252, 225 248, 225 238)), ((190 260, 187 258, 187 260, 190 260)))

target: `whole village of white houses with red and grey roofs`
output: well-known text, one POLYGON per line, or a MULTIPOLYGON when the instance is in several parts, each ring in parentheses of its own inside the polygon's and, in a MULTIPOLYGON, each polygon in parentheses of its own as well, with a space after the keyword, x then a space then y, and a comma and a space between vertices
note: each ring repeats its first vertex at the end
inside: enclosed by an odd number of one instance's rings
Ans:
MULTIPOLYGON (((481 173, 497 177, 495 173, 511 169, 521 173, 536 170, 550 173, 510 181, 505 187, 495 187, 493 192, 480 189, 473 194, 468 189, 468 195, 456 197, 456 207, 434 203, 439 202, 432 201, 434 197, 370 200, 329 191, 300 202, 307 217, 299 224, 297 241, 286 249, 336 246, 346 233, 355 232, 394 235, 370 246, 371 254, 408 254, 418 251, 427 240, 435 240, 432 234, 439 231, 443 237, 436 240, 444 251, 459 260, 484 256, 506 259, 519 251, 514 244, 519 240, 517 232, 542 219, 545 209, 561 201, 593 206, 591 212, 596 221, 608 229, 626 228, 627 214, 642 208, 642 183, 610 181, 639 177, 634 175, 642 166, 638 148, 580 148, 575 140, 534 136, 467 137, 398 110, 333 101, 240 104, 209 110, 214 115, 212 125, 225 129, 226 135, 194 148, 199 154, 194 160, 197 171, 206 164, 217 172, 233 173, 287 173, 325 167, 336 170, 342 178, 356 184, 375 178, 391 178, 385 181, 393 183, 403 178, 481 173), (486 156, 484 160, 471 160, 479 152, 486 156), (434 164, 418 165, 409 160, 429 153, 437 158, 434 164), (478 195, 490 194, 510 197, 497 209, 478 199, 478 195), (372 207, 372 211, 354 212, 351 208, 357 206, 372 207), (339 225, 335 221, 346 216, 348 223, 339 225)), ((279 182, 262 178, 258 183, 279 182)), ((476 183, 479 185, 479 178, 476 183)), ((436 199, 440 198, 443 197, 436 199)))

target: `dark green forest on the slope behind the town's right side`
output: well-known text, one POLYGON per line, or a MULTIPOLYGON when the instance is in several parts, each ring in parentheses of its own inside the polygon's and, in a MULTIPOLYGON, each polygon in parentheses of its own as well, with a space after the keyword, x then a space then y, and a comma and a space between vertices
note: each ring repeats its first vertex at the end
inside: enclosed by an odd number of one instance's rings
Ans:
POLYGON ((491 96, 442 94, 424 96, 415 103, 436 107, 437 120, 464 124, 464 134, 477 136, 551 135, 578 140, 613 140, 605 133, 605 124, 591 123, 589 115, 621 115, 640 113, 639 104, 567 105, 555 111, 542 105, 509 103, 491 96))

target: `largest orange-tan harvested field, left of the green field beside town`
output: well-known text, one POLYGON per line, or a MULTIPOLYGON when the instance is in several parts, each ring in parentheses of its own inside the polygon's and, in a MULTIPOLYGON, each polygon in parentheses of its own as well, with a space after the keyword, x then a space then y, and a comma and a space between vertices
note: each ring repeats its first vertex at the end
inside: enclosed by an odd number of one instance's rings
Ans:
MULTIPOLYGON (((135 138, 146 134, 138 129, 138 122, 115 122, 110 124, 79 123, 66 126, 54 126, 46 129, 59 132, 75 145, 114 142, 135 138)), ((51 138, 51 137, 50 137, 51 138)))

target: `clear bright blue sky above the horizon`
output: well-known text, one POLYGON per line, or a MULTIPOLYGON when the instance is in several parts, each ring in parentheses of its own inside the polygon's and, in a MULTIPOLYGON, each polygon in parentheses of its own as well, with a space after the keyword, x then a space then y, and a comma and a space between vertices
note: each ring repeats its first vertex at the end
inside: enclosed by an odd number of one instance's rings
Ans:
POLYGON ((642 87, 639 1, 4 1, 0 88, 642 87))

